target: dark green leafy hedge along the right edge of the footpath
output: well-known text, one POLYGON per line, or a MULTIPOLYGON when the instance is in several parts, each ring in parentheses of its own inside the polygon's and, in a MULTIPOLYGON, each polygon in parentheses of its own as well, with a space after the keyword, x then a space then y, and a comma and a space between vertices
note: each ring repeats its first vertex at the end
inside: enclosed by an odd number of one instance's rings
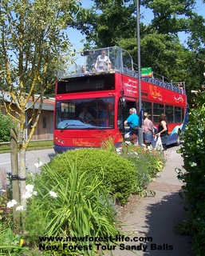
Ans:
POLYGON ((183 201, 188 211, 190 221, 189 232, 193 236, 193 251, 195 255, 204 254, 205 230, 205 97, 201 95, 198 108, 189 115, 189 122, 183 134, 184 169, 179 179, 184 182, 183 201))

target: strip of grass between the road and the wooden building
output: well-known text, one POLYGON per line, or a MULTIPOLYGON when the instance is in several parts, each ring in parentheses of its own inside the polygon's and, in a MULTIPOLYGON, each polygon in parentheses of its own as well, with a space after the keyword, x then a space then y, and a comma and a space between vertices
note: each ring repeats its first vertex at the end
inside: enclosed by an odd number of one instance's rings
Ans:
MULTIPOLYGON (((28 150, 45 150, 53 148, 53 140, 52 141, 35 141, 30 142, 27 147, 28 150)), ((1 145, 0 144, 0 154, 2 153, 10 153, 10 144, 1 145)))

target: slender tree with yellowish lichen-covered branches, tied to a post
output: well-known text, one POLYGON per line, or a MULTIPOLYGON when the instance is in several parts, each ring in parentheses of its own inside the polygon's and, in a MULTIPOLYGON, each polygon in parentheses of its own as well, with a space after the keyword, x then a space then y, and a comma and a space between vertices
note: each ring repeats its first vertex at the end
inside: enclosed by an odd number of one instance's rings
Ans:
MULTIPOLYGON (((0 15, 0 50, 1 80, 5 81, 10 93, 10 101, 4 102, 6 112, 18 122, 19 133, 19 176, 26 177, 26 147, 28 146, 37 121, 41 114, 43 94, 53 86, 56 78, 47 79, 47 74, 56 73, 62 68, 62 54, 70 58, 70 43, 65 28, 73 18, 78 17, 81 8, 74 0, 2 0, 0 15), (34 94, 39 94, 34 98, 34 94), (40 101, 37 113, 26 122, 27 103, 34 109, 35 102, 40 101), (17 106, 16 116, 13 105, 17 106), (32 129, 26 138, 30 123, 32 129)), ((22 194, 26 191, 26 182, 20 182, 21 202, 26 205, 22 194)))

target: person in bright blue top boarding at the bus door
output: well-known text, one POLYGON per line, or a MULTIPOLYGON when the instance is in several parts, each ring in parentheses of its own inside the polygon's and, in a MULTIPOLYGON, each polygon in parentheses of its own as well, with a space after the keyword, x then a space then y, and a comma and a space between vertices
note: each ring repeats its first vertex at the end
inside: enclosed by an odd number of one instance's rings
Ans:
POLYGON ((129 110, 129 116, 127 120, 124 121, 124 126, 129 126, 129 131, 127 134, 124 134, 124 138, 130 138, 133 134, 137 133, 139 117, 136 114, 136 109, 134 107, 129 110))

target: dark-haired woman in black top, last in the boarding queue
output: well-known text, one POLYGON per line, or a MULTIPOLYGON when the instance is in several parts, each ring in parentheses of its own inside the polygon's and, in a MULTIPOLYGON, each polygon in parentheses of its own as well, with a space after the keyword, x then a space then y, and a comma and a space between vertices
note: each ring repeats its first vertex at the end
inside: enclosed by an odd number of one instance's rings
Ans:
POLYGON ((167 144, 168 144, 168 123, 166 114, 160 114, 160 123, 158 125, 158 133, 156 136, 160 136, 164 151, 164 159, 167 157, 167 144))

